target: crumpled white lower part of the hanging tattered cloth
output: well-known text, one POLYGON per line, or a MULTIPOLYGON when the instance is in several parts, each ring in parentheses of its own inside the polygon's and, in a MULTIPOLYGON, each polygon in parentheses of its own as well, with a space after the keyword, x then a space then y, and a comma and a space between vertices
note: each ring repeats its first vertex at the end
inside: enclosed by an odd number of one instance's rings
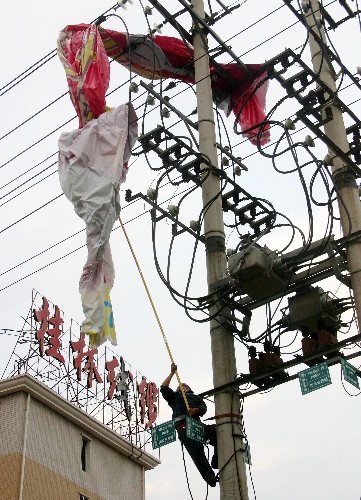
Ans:
POLYGON ((81 331, 90 334, 95 345, 106 340, 105 289, 114 283, 109 237, 120 211, 119 185, 137 135, 134 108, 122 105, 59 138, 60 185, 86 223, 88 258, 79 282, 85 315, 81 331))

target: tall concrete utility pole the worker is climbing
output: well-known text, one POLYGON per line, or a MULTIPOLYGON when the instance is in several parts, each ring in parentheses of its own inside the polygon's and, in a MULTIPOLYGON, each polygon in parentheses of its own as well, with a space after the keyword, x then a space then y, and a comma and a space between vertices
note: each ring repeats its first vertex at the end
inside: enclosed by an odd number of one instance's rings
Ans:
MULTIPOLYGON (((203 0, 193 0, 194 12, 204 19, 203 0)), ((217 166, 217 148, 214 126, 212 89, 206 34, 194 27, 194 60, 198 108, 199 151, 217 166)), ((206 167, 203 165, 203 167, 206 167)), ((220 179, 211 173, 203 176, 204 236, 206 242, 208 289, 223 278, 227 271, 220 179)), ((214 315, 219 304, 210 308, 214 315)), ((220 322, 210 322, 214 387, 232 382, 236 376, 234 338, 220 322)), ((215 396, 218 440, 218 465, 221 500, 248 500, 247 477, 244 462, 244 442, 241 437, 242 418, 238 392, 224 391, 215 396)))

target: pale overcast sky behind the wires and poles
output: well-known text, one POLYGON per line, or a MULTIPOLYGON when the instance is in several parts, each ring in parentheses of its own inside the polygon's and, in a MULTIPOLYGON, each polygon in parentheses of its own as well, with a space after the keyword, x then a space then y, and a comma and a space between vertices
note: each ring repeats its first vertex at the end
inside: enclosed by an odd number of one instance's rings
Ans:
MULTIPOLYGON (((164 2, 171 11, 174 11, 177 3, 177 0, 164 2)), ((233 2, 225 3, 233 5, 233 2)), ((282 0, 267 2, 248 0, 239 3, 240 8, 219 21, 215 30, 228 45, 232 46, 243 62, 262 63, 289 47, 298 53, 302 52, 305 61, 310 64, 308 47, 305 46, 303 50, 306 33, 299 25, 292 26, 296 23, 296 18, 284 6, 282 0), (264 16, 267 17, 259 21, 264 16)), ((344 10, 334 5, 338 2, 326 3, 331 3, 330 12, 333 15, 336 17, 343 15, 344 10)), ((349 3, 355 7, 354 2, 349 3)), ((144 2, 144 5, 147 3, 144 2)), ((211 6, 214 10, 219 9, 215 0, 212 0, 211 6)), ((90 22, 111 7, 112 4, 105 0, 88 2, 63 0, 51 4, 37 0, 32 3, 23 2, 20 5, 3 2, 0 87, 4 87, 24 70, 51 53, 56 47, 58 33, 64 26, 90 22)), ((134 0, 134 5, 129 6, 128 10, 117 10, 117 14, 121 19, 112 17, 104 26, 117 31, 127 29, 130 33, 147 32, 146 19, 138 0, 134 0)), ((189 31, 190 19, 186 16, 182 19, 184 27, 189 31)), ((162 18, 154 12, 150 21, 153 25, 162 22, 162 18)), ((165 26, 162 33, 176 36, 169 26, 165 26)), ((331 32, 330 36, 343 63, 355 73, 356 67, 360 65, 357 59, 359 51, 354 49, 360 46, 358 19, 346 22, 336 33, 331 32)), ((211 46, 215 46, 214 42, 211 42, 211 46)), ((223 61, 230 60, 224 57, 223 61)), ((126 69, 115 66, 111 65, 110 90, 125 85, 107 98, 109 106, 125 103, 128 99, 128 85, 125 82, 129 78, 129 73, 126 69)), ((139 82, 140 78, 137 77, 135 80, 139 82)), ((339 83, 343 88, 343 82, 339 80, 339 83)), ((68 324, 71 318, 80 323, 82 309, 78 280, 86 258, 83 247, 85 234, 82 231, 84 223, 76 216, 70 202, 64 196, 59 196, 61 189, 56 163, 50 166, 57 159, 57 141, 60 133, 77 127, 77 120, 72 119, 75 113, 69 97, 65 95, 58 100, 67 92, 65 73, 55 56, 14 88, 10 87, 5 87, 0 92, 3 93, 1 95, 3 120, 0 133, 0 237, 2 238, 0 331, 17 330, 22 327, 22 317, 27 315, 31 306, 33 289, 39 292, 40 296, 44 295, 52 303, 57 304, 64 311, 64 318, 68 324), (55 100, 54 104, 47 107, 55 100), (47 109, 41 114, 7 137, 2 137, 45 107, 47 109), (51 133, 54 130, 56 131, 51 133), (40 141, 48 134, 46 139, 40 141), (34 143, 37 144, 29 148, 34 143), (25 183, 32 175, 47 166, 48 170, 28 184, 25 183), (27 171, 29 172, 22 176, 27 171), (47 175, 49 177, 45 179, 47 175), (14 181, 13 179, 17 177, 18 179, 14 181), (45 180, 11 199, 42 178, 45 180), (16 190, 9 194, 15 188, 16 190), (46 207, 26 217, 29 212, 58 196, 59 198, 46 207), (19 265, 77 232, 79 234, 64 243, 19 265), (82 248, 74 251, 78 247, 82 248), (62 258, 69 253, 70 255, 62 258), (53 263, 54 261, 57 262, 53 263), (44 269, 39 271, 42 267, 44 269), (24 277, 26 278, 23 279, 24 277)), ((190 113, 196 107, 194 92, 187 85, 178 86, 169 95, 172 96, 172 104, 183 113, 190 113), (183 92, 176 96, 181 89, 183 92)), ((340 95, 346 103, 354 103, 353 110, 356 114, 359 113, 357 102, 359 95, 354 87, 343 90, 340 95)), ((134 104, 139 107, 140 130, 142 126, 144 131, 151 130, 161 122, 159 108, 156 106, 143 120, 146 94, 140 93, 133 97, 136 99, 134 104)), ((284 121, 299 109, 297 102, 290 100, 281 102, 283 97, 284 92, 280 85, 271 82, 267 96, 267 110, 279 104, 272 116, 273 120, 284 121)), ((192 118, 195 119, 194 116, 192 118)), ((242 173, 238 178, 240 185, 253 196, 272 202, 277 211, 285 213, 308 237, 309 217, 299 176, 297 172, 282 174, 276 172, 274 168, 276 166, 281 171, 292 170, 294 163, 291 155, 282 155, 273 165, 270 158, 262 157, 255 146, 233 133, 231 117, 227 119, 222 115, 222 118, 223 123, 220 122, 219 125, 220 140, 223 144, 227 144, 228 133, 235 156, 242 157, 248 167, 248 172, 242 173)), ((171 125, 176 121, 177 117, 172 114, 167 124, 171 125)), ((299 128, 302 129, 302 126, 299 125, 299 128)), ((182 124, 174 130, 179 135, 189 135, 182 124)), ((309 132, 306 129, 300 130, 294 140, 302 141, 307 133, 309 132)), ((280 132, 277 127, 272 134, 273 141, 279 138, 280 132)), ((272 148, 269 149, 269 153, 271 152, 272 148)), ((317 143, 315 154, 319 159, 326 154, 326 147, 320 141, 317 143)), ((152 158, 150 160, 156 161, 152 158)), ((122 200, 125 189, 131 189, 133 193, 145 193, 148 187, 155 187, 158 175, 157 172, 151 171, 143 156, 131 159, 130 164, 127 182, 122 186, 122 200)), ((306 183, 309 184, 313 172, 312 165, 306 169, 306 183)), ((161 190, 161 201, 164 206, 168 205, 167 200, 178 203, 184 187, 186 186, 181 185, 179 188, 167 186, 164 181, 161 190)), ((325 201, 325 190, 319 181, 315 183, 314 194, 318 202, 325 201)), ((195 392, 206 391, 212 388, 213 383, 209 325, 189 319, 184 309, 173 301, 162 284, 154 265, 149 207, 143 201, 132 205, 122 201, 122 206, 122 218, 127 222, 129 237, 151 290, 180 376, 195 392)), ((189 220, 198 218, 200 209, 201 193, 197 190, 189 199, 187 198, 184 211, 180 212, 179 218, 188 224, 189 220)), ((313 204, 313 217, 313 238, 317 239, 322 237, 325 231, 326 209, 313 204)), ((284 222, 281 217, 279 223, 284 222)), ((171 224, 162 221, 157 226, 156 248, 162 271, 165 273, 171 241, 171 224)), ((333 233, 336 238, 341 236, 337 222, 333 233)), ((226 236, 227 246, 236 246, 237 235, 228 231, 226 236)), ((272 250, 282 250, 290 239, 290 228, 281 227, 261 240, 260 244, 267 244, 272 250)), ((301 238, 297 234, 290 248, 300 247, 301 244, 301 238)), ((112 291, 118 334, 116 352, 149 380, 160 385, 169 372, 170 361, 120 229, 113 231, 111 246, 116 270, 116 283, 112 291)), ((194 240, 190 236, 181 235, 175 241, 171 259, 171 279, 174 287, 182 293, 186 287, 193 247, 194 240)), ((321 286, 338 297, 348 296, 347 289, 335 279, 327 280, 321 286)), ((192 296, 202 296, 206 294, 206 290, 205 261, 203 248, 200 248, 196 253, 189 293, 192 296)), ((281 304, 272 303, 271 314, 274 313, 275 318, 279 318, 280 311, 286 306, 287 298, 281 304)), ((267 314, 264 308, 260 308, 254 314, 251 323, 252 337, 257 337, 265 331, 267 314)), ((345 321, 349 320, 350 316, 345 315, 345 321)), ((357 327, 353 324, 351 330, 347 333, 345 330, 340 338, 356 333, 357 327)), ((0 368, 5 368, 15 341, 15 336, 4 334, 0 337, 2 353, 0 368)), ((300 346, 299 334, 296 338, 295 333, 282 337, 283 359, 293 359, 300 346)), ((260 349, 260 345, 257 348, 260 349)), ((236 354, 238 373, 247 373, 247 350, 237 341, 236 354)), ((359 361, 356 359, 353 364, 358 367, 359 361)), ((290 373, 294 374, 304 368, 306 366, 301 365, 290 373)), ((301 395, 298 381, 293 380, 268 393, 245 398, 244 422, 252 454, 250 470, 258 500, 305 500, 306 498, 358 500, 361 497, 358 453, 361 437, 360 400, 353 397, 358 395, 358 391, 349 384, 342 383, 339 365, 332 367, 330 372, 332 385, 306 396, 301 395)), ((246 387, 241 388, 243 391, 246 389, 246 387)), ((209 403, 207 415, 213 414, 213 405, 209 403)), ((161 401, 158 423, 167 421, 170 417, 169 408, 161 401)), ((190 498, 179 442, 162 448, 160 458, 162 464, 146 474, 146 499, 190 498)), ((206 498, 205 483, 189 460, 187 460, 187 472, 193 498, 195 500, 206 498)), ((255 498, 250 476, 248 487, 250 499, 255 498)), ((218 497, 217 486, 209 492, 208 499, 214 500, 218 497)))

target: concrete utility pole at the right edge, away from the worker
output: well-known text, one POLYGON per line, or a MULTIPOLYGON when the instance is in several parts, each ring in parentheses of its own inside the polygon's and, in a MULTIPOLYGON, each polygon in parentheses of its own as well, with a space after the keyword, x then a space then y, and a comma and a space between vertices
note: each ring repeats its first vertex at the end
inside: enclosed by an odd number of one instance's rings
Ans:
MULTIPOLYGON (((310 0, 309 9, 305 13, 308 26, 311 28, 309 44, 312 56, 314 72, 320 79, 332 90, 334 95, 337 93, 336 82, 333 76, 332 68, 329 65, 328 57, 325 57, 326 37, 322 16, 318 0, 310 0), (316 34, 316 38, 312 36, 316 34), (317 41, 317 37, 322 39, 323 47, 317 41)), ((332 101, 327 103, 322 110, 322 117, 326 116, 326 108, 331 111, 332 120, 324 125, 325 134, 345 153, 349 151, 343 116, 340 108, 332 101)), ((339 190, 339 210, 342 231, 344 236, 361 230, 361 202, 358 186, 356 184, 356 175, 350 166, 345 165, 344 161, 336 156, 329 148, 328 154, 332 158, 332 177, 339 190)), ((355 299, 355 309, 358 325, 361 325, 361 242, 351 243, 347 246, 348 269, 351 276, 351 284, 355 299)))

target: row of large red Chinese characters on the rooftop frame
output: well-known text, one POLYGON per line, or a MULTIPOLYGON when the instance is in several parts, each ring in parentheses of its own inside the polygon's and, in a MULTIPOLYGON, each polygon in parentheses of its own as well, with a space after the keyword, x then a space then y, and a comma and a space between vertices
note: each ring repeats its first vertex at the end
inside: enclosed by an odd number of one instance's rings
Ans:
MULTIPOLYGON (((73 337, 74 340, 70 338, 66 343, 61 311, 58 306, 50 305, 46 297, 42 298, 41 307, 32 306, 31 313, 37 324, 35 331, 35 338, 38 341, 37 363, 46 362, 46 359, 50 358, 49 366, 58 367, 56 369, 60 380, 64 379, 64 370, 67 370, 66 365, 68 365, 69 373, 65 378, 72 388, 79 387, 75 390, 75 399, 78 402, 78 395, 83 390, 86 390, 86 395, 83 397, 86 401, 90 397, 97 398, 95 395, 104 394, 102 401, 99 403, 98 400, 96 403, 96 407, 99 407, 99 404, 116 405, 118 412, 122 412, 126 418, 128 428, 132 422, 137 422, 137 426, 140 422, 143 430, 154 425, 158 416, 158 388, 154 382, 149 382, 144 376, 140 376, 141 382, 138 384, 137 375, 134 377, 132 372, 126 369, 123 357, 112 353, 112 357, 109 358, 107 348, 104 348, 104 354, 99 355, 97 348, 87 346, 86 339, 89 337, 84 333, 80 333, 80 338, 73 337), (104 392, 100 384, 103 384, 104 392)), ((28 363, 24 362, 21 366, 24 368, 27 365, 28 363)), ((32 366, 36 366, 36 363, 32 366)), ((45 372, 46 370, 41 367, 36 369, 37 375, 42 374, 42 381, 45 372)), ((55 386, 56 383, 52 388, 55 386)), ((88 403, 86 408, 87 405, 88 403)))

